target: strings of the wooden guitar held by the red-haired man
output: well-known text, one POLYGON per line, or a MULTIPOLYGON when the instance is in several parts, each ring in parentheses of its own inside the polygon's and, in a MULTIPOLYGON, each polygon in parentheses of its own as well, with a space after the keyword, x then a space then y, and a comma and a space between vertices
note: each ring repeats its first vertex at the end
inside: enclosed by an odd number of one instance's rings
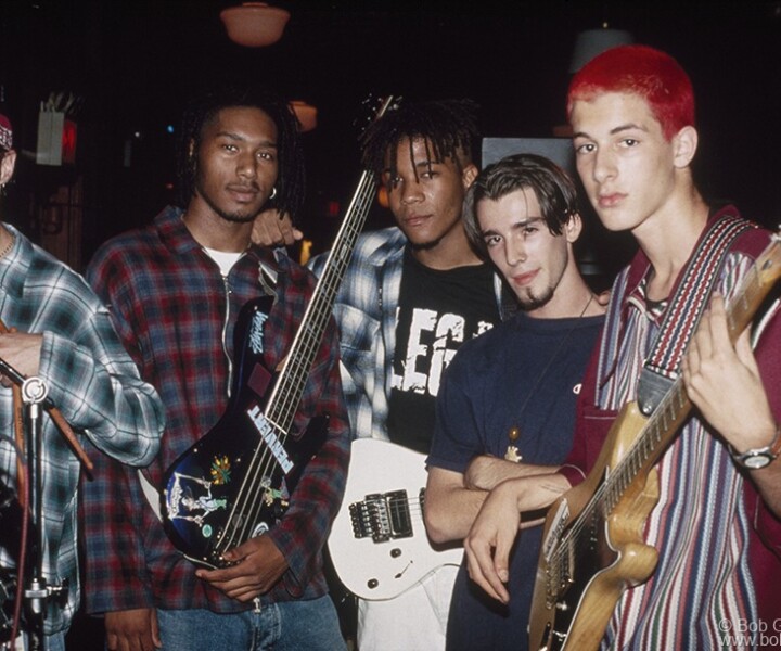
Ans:
MULTIPOLYGON (((757 296, 760 294, 760 292, 761 286, 759 283, 758 270, 757 266, 754 265, 750 272, 746 273, 744 280, 739 285, 738 291, 734 293, 734 299, 731 302, 730 308, 734 306, 734 308, 738 309, 739 307, 741 307, 740 304, 743 303, 744 307, 742 316, 745 316, 746 298, 750 299, 748 303, 756 304, 757 296)), ((733 316, 734 315, 732 314, 728 314, 728 317, 730 319, 732 319, 733 316)), ((732 320, 730 320, 730 326, 734 328, 734 323, 732 322, 732 320)), ((662 426, 663 429, 660 430, 658 421, 662 420, 663 417, 667 416, 667 418, 669 419, 669 423, 674 423, 676 422, 676 420, 684 418, 686 413, 690 409, 691 403, 686 394, 682 380, 678 378, 674 382, 673 386, 668 390, 667 394, 665 394, 663 399, 660 401, 656 411, 654 411, 652 417, 640 430, 640 433, 632 442, 632 445, 630 446, 627 454, 618 461, 613 473, 607 480, 605 480, 604 483, 599 486, 591 499, 588 501, 586 508, 584 508, 580 515, 578 515, 573 526, 565 533, 564 536, 562 536, 561 544, 556 547, 553 556, 551 557, 551 559, 555 562, 556 566, 559 566, 560 569, 564 566, 564 557, 566 556, 568 559, 568 550, 572 548, 573 545, 577 545, 577 539, 581 536, 581 534, 588 526, 586 523, 592 519, 594 510, 601 506, 601 502, 610 503, 607 512, 602 513, 602 518, 606 519, 607 515, 610 515, 612 510, 615 508, 615 506, 617 506, 617 503, 620 501, 624 492, 635 481, 637 472, 640 470, 640 468, 642 468, 651 454, 654 451, 654 443, 661 442, 662 437, 664 436, 664 432, 666 432, 668 429, 668 425, 664 424, 662 426), (678 401, 679 404, 677 413, 676 407, 674 405, 675 401, 678 401), (668 408, 669 414, 667 413, 668 408), (655 438, 655 442, 651 442, 651 436, 648 434, 649 431, 654 434, 653 438, 655 438), (610 502, 607 502, 609 497, 611 498, 610 502)), ((586 531, 586 534, 590 535, 588 531, 586 531)), ((561 573, 559 576, 561 576, 561 573)))

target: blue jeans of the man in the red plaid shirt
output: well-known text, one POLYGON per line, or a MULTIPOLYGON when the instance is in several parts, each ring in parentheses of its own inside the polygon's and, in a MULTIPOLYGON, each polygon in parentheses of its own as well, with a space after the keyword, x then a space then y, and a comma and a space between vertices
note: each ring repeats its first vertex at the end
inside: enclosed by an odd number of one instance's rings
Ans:
POLYGON ((229 614, 157 609, 157 623, 163 651, 346 650, 328 595, 229 614))

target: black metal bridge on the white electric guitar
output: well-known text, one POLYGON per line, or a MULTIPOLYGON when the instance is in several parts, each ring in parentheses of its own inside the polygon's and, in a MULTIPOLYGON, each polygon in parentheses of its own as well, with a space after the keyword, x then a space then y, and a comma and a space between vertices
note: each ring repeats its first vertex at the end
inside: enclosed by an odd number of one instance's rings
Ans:
POLYGON ((385 542, 413 535, 406 490, 367 495, 349 506, 349 514, 356 538, 385 542))

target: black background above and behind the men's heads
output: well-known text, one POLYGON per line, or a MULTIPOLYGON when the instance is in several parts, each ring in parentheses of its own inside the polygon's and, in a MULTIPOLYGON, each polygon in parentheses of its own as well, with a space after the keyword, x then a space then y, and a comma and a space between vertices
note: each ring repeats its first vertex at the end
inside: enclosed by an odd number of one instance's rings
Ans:
MULTIPOLYGON (((219 12, 236 3, 0 5, 0 82, 22 146, 35 150, 37 106, 51 91, 85 99, 78 170, 93 240, 87 251, 119 228, 149 221, 168 199, 166 126, 176 125, 197 85, 256 78, 318 106, 319 126, 304 137, 310 208, 303 220, 313 224, 319 203, 344 201, 357 180, 351 123, 368 93, 470 97, 482 105, 486 136, 548 137, 563 122, 576 35, 604 22, 669 51, 691 74, 705 192, 734 199, 766 222, 781 218, 779 1, 272 1, 292 17, 282 40, 261 49, 226 37, 219 12)), ((39 173, 30 165, 20 174, 39 173)))

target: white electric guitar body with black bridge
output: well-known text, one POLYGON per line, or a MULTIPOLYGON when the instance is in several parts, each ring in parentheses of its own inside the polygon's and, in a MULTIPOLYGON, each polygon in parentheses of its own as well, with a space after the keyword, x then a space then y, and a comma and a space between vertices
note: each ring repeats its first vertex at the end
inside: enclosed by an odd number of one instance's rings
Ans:
POLYGON ((443 565, 460 565, 463 547, 434 547, 423 525, 425 456, 375 438, 353 442, 347 486, 329 552, 354 595, 392 599, 443 565))

